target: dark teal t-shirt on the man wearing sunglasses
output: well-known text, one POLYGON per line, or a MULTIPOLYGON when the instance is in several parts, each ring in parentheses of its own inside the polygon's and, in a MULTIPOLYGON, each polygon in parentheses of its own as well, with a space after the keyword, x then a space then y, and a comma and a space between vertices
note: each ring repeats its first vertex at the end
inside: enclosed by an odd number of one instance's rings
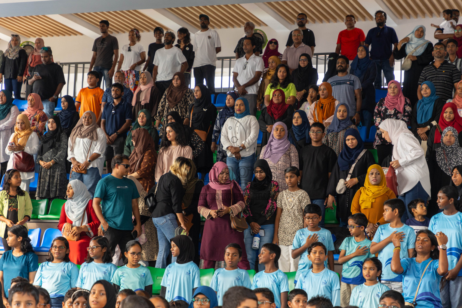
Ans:
POLYGON ((101 209, 109 227, 133 230, 132 199, 140 197, 134 181, 108 175, 98 181, 94 197, 102 199, 101 209))

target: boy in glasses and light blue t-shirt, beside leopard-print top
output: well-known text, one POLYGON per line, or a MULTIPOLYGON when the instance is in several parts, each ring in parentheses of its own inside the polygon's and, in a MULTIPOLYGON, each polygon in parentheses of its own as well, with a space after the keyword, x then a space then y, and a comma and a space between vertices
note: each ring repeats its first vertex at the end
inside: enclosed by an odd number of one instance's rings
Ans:
POLYGON ((314 242, 321 242, 327 247, 328 253, 324 266, 334 269, 334 241, 332 240, 332 234, 329 230, 318 226, 322 218, 321 208, 316 204, 306 205, 303 210, 303 217, 308 227, 298 230, 292 243, 292 259, 300 256, 298 270, 295 274, 295 284, 297 284, 300 274, 306 272, 311 266, 307 249, 314 242))

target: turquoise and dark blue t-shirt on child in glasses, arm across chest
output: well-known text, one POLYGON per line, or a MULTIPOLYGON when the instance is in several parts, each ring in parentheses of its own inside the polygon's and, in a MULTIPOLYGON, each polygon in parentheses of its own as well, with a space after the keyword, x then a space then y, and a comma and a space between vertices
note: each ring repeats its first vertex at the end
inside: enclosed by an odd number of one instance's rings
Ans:
MULTIPOLYGON (((340 250, 345 250, 345 255, 353 254, 356 251, 356 248, 361 246, 367 246, 371 248, 371 240, 367 238, 361 242, 356 242, 354 236, 346 237, 340 245, 340 250)), ((362 256, 356 256, 351 258, 349 261, 343 263, 342 265, 342 282, 346 284, 363 284, 366 279, 363 277, 363 262, 367 258, 371 258, 374 255, 368 250, 367 254, 362 256)))

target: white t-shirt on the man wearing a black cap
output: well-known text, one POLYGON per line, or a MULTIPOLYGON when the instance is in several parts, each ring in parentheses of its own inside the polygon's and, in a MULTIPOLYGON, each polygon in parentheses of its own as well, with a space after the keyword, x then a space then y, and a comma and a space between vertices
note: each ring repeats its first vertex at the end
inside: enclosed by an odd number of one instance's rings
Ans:
POLYGON ((193 67, 208 64, 216 66, 217 52, 215 48, 221 47, 217 31, 211 29, 204 32, 197 31, 194 34, 192 44, 195 51, 193 67))

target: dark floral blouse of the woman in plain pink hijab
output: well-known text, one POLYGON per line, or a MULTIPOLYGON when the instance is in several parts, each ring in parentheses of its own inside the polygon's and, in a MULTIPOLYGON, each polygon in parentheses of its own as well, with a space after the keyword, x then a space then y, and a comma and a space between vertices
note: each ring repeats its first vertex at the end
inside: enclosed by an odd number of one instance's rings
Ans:
POLYGON ((374 110, 374 124, 377 127, 376 138, 374 140, 374 149, 377 149, 376 145, 390 145, 390 143, 382 137, 380 129, 378 126, 386 119, 395 119, 405 121, 407 125, 410 125, 412 107, 410 101, 406 98, 404 103, 404 112, 401 113, 396 109, 389 110, 385 105, 383 105, 385 99, 381 98, 378 101, 377 106, 374 110))

